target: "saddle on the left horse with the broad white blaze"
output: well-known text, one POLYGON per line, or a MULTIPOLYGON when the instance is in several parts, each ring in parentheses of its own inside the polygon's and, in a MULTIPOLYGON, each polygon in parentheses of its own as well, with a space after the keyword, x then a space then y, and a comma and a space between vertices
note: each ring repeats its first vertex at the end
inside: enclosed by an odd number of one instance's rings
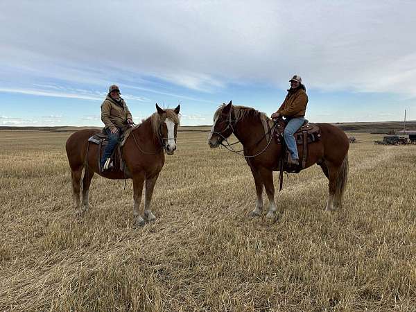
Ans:
MULTIPOLYGON (((130 134, 130 131, 129 131, 130 134)), ((126 139, 126 134, 125 132, 123 132, 123 134, 121 135, 120 139, 119 139, 119 143, 117 144, 116 148, 114 148, 114 151, 110 157, 110 161, 113 163, 113 168, 111 169, 111 171, 121 171, 124 173, 125 177, 131 177, 130 173, 128 171, 127 166, 125 166, 125 162, 123 159, 123 153, 121 151, 121 147, 124 145, 126 139)), ((107 135, 105 135, 104 132, 97 132, 94 135, 92 135, 92 137, 89 137, 88 139, 89 142, 93 143, 93 144, 97 144, 98 145, 98 168, 100 170, 100 173, 102 171, 101 168, 101 157, 103 155, 103 150, 105 148, 105 146, 107 146, 108 143, 108 139, 107 139, 107 135)))

